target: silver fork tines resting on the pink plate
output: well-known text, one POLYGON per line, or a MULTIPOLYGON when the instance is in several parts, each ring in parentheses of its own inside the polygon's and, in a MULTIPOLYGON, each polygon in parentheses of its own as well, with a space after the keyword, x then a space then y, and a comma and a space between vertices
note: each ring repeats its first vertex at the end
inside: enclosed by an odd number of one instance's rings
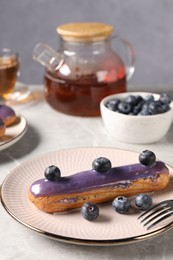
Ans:
POLYGON ((149 210, 146 210, 138 219, 140 219, 140 222, 143 223, 144 226, 147 226, 147 230, 149 230, 172 215, 173 200, 165 200, 157 203, 149 210))

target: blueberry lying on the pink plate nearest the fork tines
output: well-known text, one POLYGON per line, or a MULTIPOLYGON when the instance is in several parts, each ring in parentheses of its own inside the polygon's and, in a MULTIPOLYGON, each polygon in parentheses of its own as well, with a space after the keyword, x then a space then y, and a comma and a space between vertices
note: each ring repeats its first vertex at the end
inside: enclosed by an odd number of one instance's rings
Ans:
POLYGON ((135 198, 135 205, 140 210, 148 210, 152 206, 152 198, 149 194, 139 194, 135 198))

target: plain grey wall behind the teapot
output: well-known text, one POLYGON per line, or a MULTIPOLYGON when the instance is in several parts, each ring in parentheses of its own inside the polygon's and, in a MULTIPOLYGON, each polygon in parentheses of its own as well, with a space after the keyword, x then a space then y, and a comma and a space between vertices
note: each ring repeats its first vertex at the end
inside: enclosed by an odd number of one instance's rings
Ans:
POLYGON ((56 27, 81 21, 112 24, 133 44, 136 71, 131 85, 172 89, 172 0, 0 0, 0 48, 19 52, 20 81, 41 84, 44 68, 32 60, 34 46, 47 42, 57 48, 56 27))

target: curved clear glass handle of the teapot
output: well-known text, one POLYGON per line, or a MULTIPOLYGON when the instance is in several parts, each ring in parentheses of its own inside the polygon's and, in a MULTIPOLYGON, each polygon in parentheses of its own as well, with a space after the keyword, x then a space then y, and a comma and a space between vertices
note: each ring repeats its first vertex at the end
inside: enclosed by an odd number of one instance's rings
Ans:
POLYGON ((125 49, 126 49, 126 53, 127 53, 127 59, 128 59, 128 62, 127 65, 125 64, 125 67, 126 67, 126 79, 127 80, 130 80, 134 74, 134 71, 135 71, 135 50, 133 48, 133 46, 125 39, 121 38, 120 36, 118 35, 113 35, 111 37, 112 39, 118 39, 124 46, 125 46, 125 49))

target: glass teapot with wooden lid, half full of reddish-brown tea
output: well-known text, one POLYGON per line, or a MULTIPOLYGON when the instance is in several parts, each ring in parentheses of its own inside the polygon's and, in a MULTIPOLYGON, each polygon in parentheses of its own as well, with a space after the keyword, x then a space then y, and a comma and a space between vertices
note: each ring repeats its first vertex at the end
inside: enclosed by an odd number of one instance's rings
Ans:
POLYGON ((99 116, 105 96, 127 90, 135 70, 134 50, 126 40, 113 37, 112 31, 107 24, 64 24, 57 28, 58 51, 36 45, 33 58, 46 67, 45 98, 50 106, 69 115, 99 116), (128 65, 112 49, 113 38, 125 47, 128 65))

